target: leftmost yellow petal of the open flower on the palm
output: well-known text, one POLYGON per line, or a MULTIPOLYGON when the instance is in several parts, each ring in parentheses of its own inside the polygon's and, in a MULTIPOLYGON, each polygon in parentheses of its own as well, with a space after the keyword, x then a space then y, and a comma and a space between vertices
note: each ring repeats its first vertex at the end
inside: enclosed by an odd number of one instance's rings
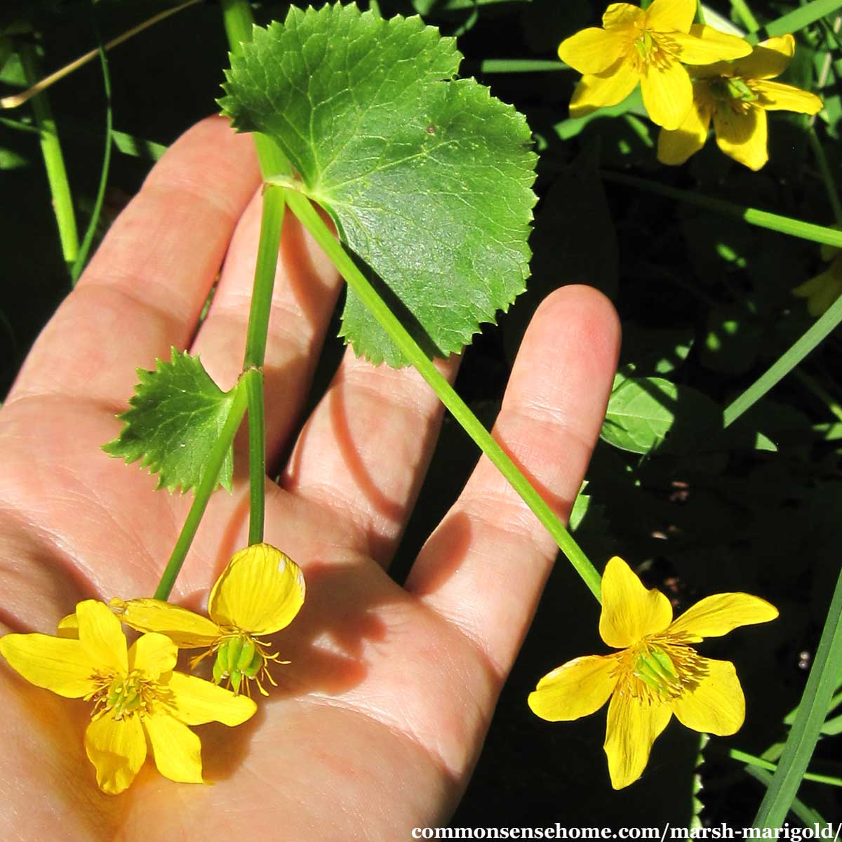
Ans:
POLYGON ((96 690, 91 677, 99 664, 92 662, 77 640, 46 634, 8 634, 0 637, 0 654, 29 684, 67 699, 80 699, 96 690))

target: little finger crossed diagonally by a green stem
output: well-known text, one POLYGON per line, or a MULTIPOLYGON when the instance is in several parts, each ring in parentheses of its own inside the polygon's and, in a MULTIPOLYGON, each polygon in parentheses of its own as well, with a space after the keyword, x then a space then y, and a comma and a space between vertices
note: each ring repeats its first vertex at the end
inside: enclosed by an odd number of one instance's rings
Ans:
MULTIPOLYGON (((557 290, 532 319, 494 426, 565 521, 600 434, 619 342, 604 296, 584 286, 557 290)), ((477 642, 502 675, 556 554, 555 541, 483 456, 424 545, 407 589, 477 642)))

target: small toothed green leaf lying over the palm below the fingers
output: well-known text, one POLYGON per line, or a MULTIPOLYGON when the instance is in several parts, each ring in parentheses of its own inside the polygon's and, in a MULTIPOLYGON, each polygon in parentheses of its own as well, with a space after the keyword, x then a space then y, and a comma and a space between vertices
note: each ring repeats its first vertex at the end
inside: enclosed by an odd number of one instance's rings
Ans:
MULTIPOLYGON (((222 392, 210 379, 199 357, 173 348, 168 362, 155 370, 137 370, 140 382, 120 415, 125 427, 103 450, 126 463, 157 473, 157 488, 185 493, 199 484, 237 391, 222 392)), ((229 449, 220 472, 221 485, 231 491, 233 455, 229 449)))

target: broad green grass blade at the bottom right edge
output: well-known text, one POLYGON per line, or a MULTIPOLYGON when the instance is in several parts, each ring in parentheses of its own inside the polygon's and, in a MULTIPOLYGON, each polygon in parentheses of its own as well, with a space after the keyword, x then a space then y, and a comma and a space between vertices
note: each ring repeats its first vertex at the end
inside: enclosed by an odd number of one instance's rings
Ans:
MULTIPOLYGON (((839 303, 839 302, 837 302, 839 303)), ((842 571, 834 589, 822 637, 818 642, 813 668, 801 698, 798 715, 786 740, 786 747, 772 775, 755 828, 779 828, 797 796, 807 764, 813 757, 824 717, 842 670, 842 571)))

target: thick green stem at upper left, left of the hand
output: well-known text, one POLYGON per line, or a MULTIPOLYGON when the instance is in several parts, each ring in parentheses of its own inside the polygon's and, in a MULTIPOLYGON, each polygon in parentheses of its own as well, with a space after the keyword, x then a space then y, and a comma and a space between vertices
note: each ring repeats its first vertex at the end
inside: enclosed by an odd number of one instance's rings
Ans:
MULTIPOLYGON (((34 85, 40 75, 35 45, 21 44, 19 56, 24 68, 26 83, 34 85)), ((61 143, 56 129, 56 120, 53 120, 50 102, 45 93, 39 93, 32 99, 32 111, 35 115, 35 125, 38 126, 40 131, 41 154, 44 156, 47 181, 50 184, 52 205, 56 214, 58 236, 61 242, 61 253, 64 256, 67 269, 72 271, 79 253, 79 235, 76 227, 76 216, 73 213, 70 182, 67 180, 67 169, 64 166, 64 156, 61 154, 61 143)))

